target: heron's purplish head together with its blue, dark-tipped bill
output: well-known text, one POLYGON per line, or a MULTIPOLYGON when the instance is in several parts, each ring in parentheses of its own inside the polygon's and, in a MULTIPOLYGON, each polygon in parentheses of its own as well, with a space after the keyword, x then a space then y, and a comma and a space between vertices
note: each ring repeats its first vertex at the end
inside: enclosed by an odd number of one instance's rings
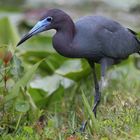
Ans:
POLYGON ((18 42, 17 46, 25 42, 32 36, 50 30, 59 30, 63 28, 65 22, 69 20, 69 16, 59 9, 50 9, 46 14, 36 23, 36 25, 18 42))

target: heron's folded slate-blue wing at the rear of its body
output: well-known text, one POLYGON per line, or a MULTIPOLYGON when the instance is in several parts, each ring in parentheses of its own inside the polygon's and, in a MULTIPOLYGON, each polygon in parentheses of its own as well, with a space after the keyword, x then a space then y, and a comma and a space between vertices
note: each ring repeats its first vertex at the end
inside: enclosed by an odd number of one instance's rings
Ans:
POLYGON ((102 54, 107 57, 123 59, 140 50, 134 33, 122 26, 103 26, 97 37, 102 46, 102 54))

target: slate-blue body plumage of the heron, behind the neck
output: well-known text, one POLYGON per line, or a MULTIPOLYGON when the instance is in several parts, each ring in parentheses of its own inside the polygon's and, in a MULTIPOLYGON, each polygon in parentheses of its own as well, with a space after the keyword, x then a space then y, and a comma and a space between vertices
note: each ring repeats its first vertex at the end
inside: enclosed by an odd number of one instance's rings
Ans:
POLYGON ((101 16, 83 17, 75 23, 80 57, 124 59, 140 50, 134 35, 119 23, 101 16))

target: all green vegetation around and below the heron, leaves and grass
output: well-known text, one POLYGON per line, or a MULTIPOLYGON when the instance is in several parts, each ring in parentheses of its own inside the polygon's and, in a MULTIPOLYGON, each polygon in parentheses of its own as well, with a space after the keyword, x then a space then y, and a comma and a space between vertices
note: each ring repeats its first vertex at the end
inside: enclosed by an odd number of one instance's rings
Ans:
POLYGON ((60 56, 46 35, 16 48, 19 35, 7 18, 0 19, 0 36, 0 139, 140 139, 140 70, 133 57, 109 70, 95 119, 93 77, 85 60, 60 56))

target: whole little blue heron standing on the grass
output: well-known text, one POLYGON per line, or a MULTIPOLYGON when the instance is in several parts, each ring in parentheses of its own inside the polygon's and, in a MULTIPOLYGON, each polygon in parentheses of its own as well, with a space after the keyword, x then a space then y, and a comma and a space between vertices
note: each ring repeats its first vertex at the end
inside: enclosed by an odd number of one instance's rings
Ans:
MULTIPOLYGON (((104 80, 108 66, 128 58, 130 54, 140 53, 140 41, 136 33, 124 28, 118 22, 102 16, 85 16, 77 22, 59 9, 50 9, 17 44, 40 32, 55 29, 53 47, 58 53, 70 58, 85 58, 90 64, 95 83, 93 112, 100 102, 95 63, 101 65, 101 81, 104 80)), ((87 121, 82 125, 84 131, 87 121)))

